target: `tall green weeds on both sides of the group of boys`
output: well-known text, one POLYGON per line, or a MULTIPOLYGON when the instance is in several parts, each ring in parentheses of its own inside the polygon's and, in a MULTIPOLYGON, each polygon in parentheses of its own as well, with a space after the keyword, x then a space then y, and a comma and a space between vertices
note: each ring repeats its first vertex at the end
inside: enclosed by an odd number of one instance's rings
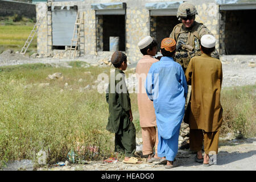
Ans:
MULTIPOLYGON (((108 122, 105 94, 96 89, 80 92, 81 87, 92 85, 100 73, 109 75, 110 68, 85 68, 86 63, 80 61, 69 65, 73 68, 55 68, 49 64, 0 68, 1 165, 8 160, 36 159, 40 150, 47 152, 48 164, 67 160, 71 150, 78 160, 113 155, 114 134, 105 130, 108 122), (64 80, 46 79, 56 72, 63 73, 64 80), (39 86, 46 82, 49 86, 39 86), (97 154, 90 150, 93 147, 98 147, 97 154)), ((241 132, 243 137, 255 137, 255 90, 255 85, 222 90, 221 135, 241 132)), ((137 94, 130 93, 130 98, 133 122, 140 137, 137 94)))

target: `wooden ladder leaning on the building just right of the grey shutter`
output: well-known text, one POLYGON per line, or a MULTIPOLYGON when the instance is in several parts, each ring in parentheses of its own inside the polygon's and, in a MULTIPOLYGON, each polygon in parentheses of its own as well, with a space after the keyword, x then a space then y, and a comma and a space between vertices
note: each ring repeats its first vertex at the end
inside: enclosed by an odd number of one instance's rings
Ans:
POLYGON ((68 59, 70 59, 70 57, 71 57, 72 50, 74 51, 73 59, 75 59, 75 57, 76 57, 76 49, 77 49, 77 46, 79 45, 80 30, 81 30, 81 26, 83 23, 84 23, 84 12, 82 13, 82 17, 80 18, 79 11, 77 11, 76 23, 75 23, 75 28, 74 28, 74 32, 73 32, 73 38, 71 40, 71 46, 69 48, 67 48, 67 51, 69 50, 68 59), (75 48, 72 48, 73 43, 75 43, 75 45, 76 45, 75 48))

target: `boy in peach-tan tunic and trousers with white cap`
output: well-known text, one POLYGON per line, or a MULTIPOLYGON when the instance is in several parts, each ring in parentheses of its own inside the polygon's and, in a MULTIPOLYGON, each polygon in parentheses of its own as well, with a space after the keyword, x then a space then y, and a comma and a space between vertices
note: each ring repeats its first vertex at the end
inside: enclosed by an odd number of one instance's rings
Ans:
POLYGON ((153 63, 159 61, 153 56, 157 52, 157 43, 151 38, 146 36, 138 43, 143 57, 138 61, 136 68, 136 75, 138 78, 138 107, 139 107, 139 122, 141 125, 143 155, 148 155, 147 162, 154 162, 160 160, 157 156, 158 134, 156 129, 155 109, 153 102, 147 97, 146 90, 144 89, 144 81, 146 80, 147 73, 153 63), (155 146, 155 155, 152 158, 155 146))

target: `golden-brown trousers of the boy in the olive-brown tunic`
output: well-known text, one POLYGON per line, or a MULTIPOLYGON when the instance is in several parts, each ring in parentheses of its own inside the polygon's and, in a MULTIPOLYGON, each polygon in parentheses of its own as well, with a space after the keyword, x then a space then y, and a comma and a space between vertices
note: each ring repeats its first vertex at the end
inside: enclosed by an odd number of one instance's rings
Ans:
POLYGON ((205 132, 204 130, 190 129, 189 144, 192 151, 200 151, 203 147, 205 154, 210 151, 218 154, 218 135, 219 130, 214 132, 205 132))

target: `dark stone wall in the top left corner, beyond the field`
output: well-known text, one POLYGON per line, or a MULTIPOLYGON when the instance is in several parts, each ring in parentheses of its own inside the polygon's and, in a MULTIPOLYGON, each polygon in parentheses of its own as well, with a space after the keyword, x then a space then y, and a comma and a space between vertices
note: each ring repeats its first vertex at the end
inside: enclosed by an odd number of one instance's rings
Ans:
POLYGON ((27 18, 36 17, 35 5, 26 2, 0 1, 0 16, 13 16, 14 14, 27 18))

